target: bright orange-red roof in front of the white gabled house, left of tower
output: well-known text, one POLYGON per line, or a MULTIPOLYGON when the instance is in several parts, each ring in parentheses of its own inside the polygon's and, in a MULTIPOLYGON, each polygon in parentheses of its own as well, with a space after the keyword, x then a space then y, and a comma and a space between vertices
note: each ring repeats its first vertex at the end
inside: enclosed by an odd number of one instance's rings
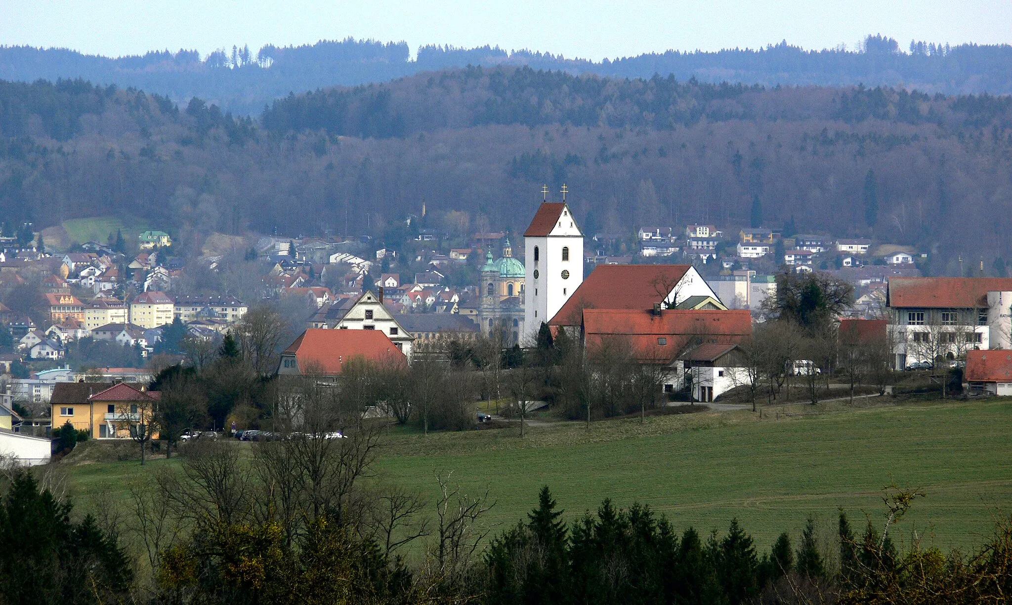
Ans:
POLYGON ((309 329, 281 352, 278 375, 320 372, 336 378, 356 357, 381 363, 406 364, 408 358, 380 330, 309 329))

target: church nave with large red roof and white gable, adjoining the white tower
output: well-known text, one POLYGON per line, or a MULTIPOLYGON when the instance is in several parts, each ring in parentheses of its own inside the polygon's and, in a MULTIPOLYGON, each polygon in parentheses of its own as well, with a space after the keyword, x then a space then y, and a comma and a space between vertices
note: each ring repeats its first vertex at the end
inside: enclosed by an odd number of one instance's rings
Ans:
POLYGON ((585 309, 647 312, 658 305, 679 308, 696 296, 720 300, 692 265, 598 265, 549 325, 575 331, 585 309))

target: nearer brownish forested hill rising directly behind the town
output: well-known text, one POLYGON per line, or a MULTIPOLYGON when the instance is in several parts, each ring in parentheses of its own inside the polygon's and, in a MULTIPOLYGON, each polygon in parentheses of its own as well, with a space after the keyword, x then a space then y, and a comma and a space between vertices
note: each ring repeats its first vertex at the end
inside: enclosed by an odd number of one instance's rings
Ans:
MULTIPOLYGON (((291 95, 259 121, 81 81, 0 83, 0 215, 363 234, 409 213, 521 231, 565 182, 587 233, 753 219, 956 258, 1012 257, 1012 97, 714 85, 529 68, 291 95)), ((403 235, 403 234, 402 234, 403 235)), ((193 248, 195 249, 195 248, 193 248)))

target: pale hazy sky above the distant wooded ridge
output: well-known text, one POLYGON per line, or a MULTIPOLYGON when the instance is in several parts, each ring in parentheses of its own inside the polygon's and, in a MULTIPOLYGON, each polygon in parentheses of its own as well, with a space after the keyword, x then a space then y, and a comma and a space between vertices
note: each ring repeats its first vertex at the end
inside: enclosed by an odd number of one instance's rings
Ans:
POLYGON ((600 60, 667 49, 758 48, 786 39, 853 49, 867 33, 958 44, 1012 42, 1012 0, 601 2, 494 0, 0 0, 0 45, 109 56, 210 51, 346 36, 531 49, 600 60))

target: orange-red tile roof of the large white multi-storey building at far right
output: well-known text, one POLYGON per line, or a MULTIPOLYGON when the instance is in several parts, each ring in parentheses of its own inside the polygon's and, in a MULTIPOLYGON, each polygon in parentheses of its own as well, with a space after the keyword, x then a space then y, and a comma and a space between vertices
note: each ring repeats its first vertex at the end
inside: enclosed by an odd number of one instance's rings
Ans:
POLYGON ((889 280, 890 307, 981 308, 989 291, 1012 291, 1012 277, 893 277, 889 280))

